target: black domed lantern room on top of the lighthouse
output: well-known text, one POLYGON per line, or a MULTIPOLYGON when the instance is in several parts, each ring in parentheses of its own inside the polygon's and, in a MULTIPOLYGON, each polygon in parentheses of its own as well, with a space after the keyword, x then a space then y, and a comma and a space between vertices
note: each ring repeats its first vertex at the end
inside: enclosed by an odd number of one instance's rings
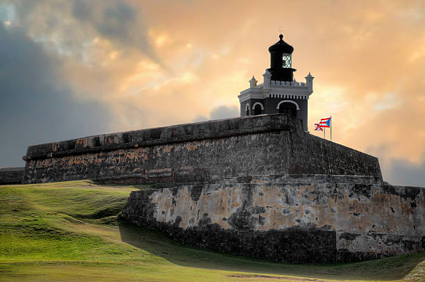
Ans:
POLYGON ((270 68, 272 81, 293 81, 292 52, 294 47, 283 41, 283 35, 279 35, 279 41, 269 47, 270 68))

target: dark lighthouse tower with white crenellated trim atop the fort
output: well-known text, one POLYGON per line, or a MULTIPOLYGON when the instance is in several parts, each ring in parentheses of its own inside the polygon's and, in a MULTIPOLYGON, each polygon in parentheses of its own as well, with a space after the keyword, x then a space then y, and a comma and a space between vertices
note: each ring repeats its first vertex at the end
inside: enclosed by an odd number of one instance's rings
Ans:
POLYGON ((238 96, 241 117, 283 113, 301 119, 303 129, 308 131, 308 97, 313 93, 314 77, 308 73, 305 83, 294 79, 297 69, 292 68, 293 51, 283 35, 269 47, 270 68, 263 74, 263 83, 257 84, 252 76, 249 88, 238 96))

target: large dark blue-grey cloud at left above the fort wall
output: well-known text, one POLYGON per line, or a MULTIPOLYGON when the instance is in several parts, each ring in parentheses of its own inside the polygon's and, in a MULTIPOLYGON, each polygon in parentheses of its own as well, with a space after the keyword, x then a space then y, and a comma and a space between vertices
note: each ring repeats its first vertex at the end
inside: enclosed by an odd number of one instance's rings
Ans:
POLYGON ((0 166, 19 166, 30 144, 104 133, 108 111, 76 101, 57 60, 22 29, 0 23, 0 120, 0 166))

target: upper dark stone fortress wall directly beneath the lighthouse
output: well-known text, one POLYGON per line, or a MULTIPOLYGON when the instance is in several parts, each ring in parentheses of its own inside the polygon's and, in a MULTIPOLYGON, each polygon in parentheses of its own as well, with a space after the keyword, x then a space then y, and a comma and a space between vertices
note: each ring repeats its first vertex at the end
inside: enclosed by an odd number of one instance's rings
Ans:
POLYGON ((286 115, 238 117, 28 147, 24 183, 199 183, 258 174, 376 176, 378 159, 302 131, 286 115))

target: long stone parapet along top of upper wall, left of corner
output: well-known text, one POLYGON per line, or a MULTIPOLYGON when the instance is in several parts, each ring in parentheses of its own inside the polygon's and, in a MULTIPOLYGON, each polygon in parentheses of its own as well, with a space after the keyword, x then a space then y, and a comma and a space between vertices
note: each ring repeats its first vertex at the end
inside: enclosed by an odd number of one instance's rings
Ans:
POLYGON ((60 142, 29 146, 24 160, 77 156, 81 154, 151 147, 178 142, 226 138, 237 135, 269 131, 297 130, 299 121, 283 115, 262 115, 256 118, 237 117, 194 124, 179 124, 158 128, 142 129, 94 135, 60 142))

